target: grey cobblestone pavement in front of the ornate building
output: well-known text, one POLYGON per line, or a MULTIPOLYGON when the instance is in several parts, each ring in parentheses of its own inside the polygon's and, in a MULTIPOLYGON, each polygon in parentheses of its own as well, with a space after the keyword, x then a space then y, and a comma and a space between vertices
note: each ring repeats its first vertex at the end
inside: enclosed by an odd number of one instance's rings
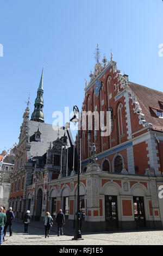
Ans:
POLYGON ((13 235, 9 236, 9 232, 5 237, 8 239, 3 242, 7 245, 163 245, 163 230, 149 231, 116 231, 103 233, 83 233, 84 240, 74 241, 73 230, 68 235, 68 230, 62 236, 57 236, 55 231, 51 230, 49 237, 45 239, 44 229, 33 227, 32 224, 28 227, 28 234, 23 233, 23 224, 13 222, 13 235))

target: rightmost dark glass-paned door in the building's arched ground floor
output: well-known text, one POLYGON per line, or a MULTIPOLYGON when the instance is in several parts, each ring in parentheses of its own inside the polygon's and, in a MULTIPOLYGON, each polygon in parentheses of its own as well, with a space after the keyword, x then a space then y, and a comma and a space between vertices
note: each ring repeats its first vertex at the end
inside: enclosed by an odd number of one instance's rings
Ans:
POLYGON ((133 202, 136 228, 144 228, 146 225, 146 216, 143 197, 133 197, 133 202))

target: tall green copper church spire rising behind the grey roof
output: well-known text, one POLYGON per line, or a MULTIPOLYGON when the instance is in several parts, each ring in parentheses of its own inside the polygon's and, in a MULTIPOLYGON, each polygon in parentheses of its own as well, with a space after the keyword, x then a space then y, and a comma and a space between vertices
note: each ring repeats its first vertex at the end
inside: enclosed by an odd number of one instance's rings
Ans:
POLYGON ((37 97, 34 103, 35 108, 34 108, 34 112, 31 115, 30 120, 44 123, 44 115, 42 112, 42 108, 43 108, 42 95, 43 95, 43 67, 42 67, 42 74, 41 74, 39 88, 37 89, 37 97))

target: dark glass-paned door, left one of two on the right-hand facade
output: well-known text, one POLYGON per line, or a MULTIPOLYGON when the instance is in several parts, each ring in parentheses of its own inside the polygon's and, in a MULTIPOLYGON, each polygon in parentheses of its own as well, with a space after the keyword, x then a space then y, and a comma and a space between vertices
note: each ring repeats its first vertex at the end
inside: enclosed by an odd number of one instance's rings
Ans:
POLYGON ((105 196, 105 221, 107 229, 118 228, 117 196, 105 196))

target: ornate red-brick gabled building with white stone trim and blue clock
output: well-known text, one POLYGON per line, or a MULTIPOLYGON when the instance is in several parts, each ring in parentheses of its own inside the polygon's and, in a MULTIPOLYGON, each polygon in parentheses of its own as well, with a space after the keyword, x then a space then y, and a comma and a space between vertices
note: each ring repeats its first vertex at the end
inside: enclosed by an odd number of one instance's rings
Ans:
MULTIPOLYGON (((74 143, 67 127, 59 138, 52 125, 43 123, 42 93, 38 89, 32 119, 28 108, 23 115, 10 204, 18 217, 30 210, 38 221, 46 210, 54 217, 62 209, 67 227, 74 228, 78 186, 74 143)), ((162 228, 163 93, 129 82, 111 53, 109 61, 97 61, 90 82, 85 82, 80 128, 83 230, 162 228), (93 112, 98 117, 90 119, 93 112)))

